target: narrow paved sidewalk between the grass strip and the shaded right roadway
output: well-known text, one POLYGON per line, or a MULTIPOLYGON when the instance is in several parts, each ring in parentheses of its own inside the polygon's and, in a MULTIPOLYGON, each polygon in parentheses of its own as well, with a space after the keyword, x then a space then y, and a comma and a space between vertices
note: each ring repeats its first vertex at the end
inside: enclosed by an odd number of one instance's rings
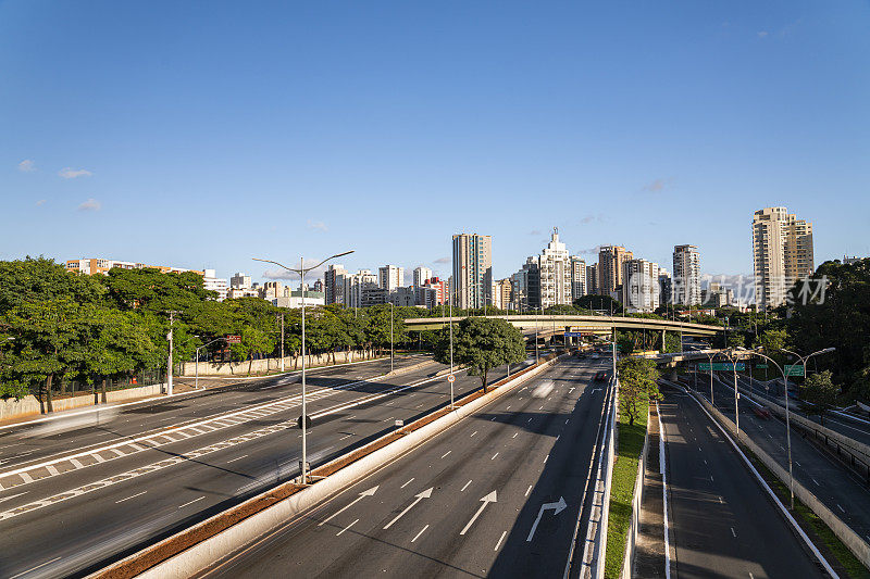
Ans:
POLYGON ((641 526, 637 531, 632 577, 664 577, 664 516, 662 476, 659 462, 659 415, 649 406, 649 444, 644 473, 644 500, 641 503, 641 526))

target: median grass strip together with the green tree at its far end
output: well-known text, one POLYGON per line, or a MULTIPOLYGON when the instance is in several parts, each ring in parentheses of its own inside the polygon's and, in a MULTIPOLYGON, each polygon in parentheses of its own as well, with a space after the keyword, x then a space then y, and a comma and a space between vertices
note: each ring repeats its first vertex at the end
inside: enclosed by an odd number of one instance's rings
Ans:
POLYGON ((607 525, 605 577, 619 579, 625 561, 625 544, 631 530, 632 498, 637 480, 637 464, 644 449, 649 417, 649 400, 658 398, 658 369, 643 358, 622 358, 619 372, 619 418, 616 463, 610 484, 610 514, 607 525))

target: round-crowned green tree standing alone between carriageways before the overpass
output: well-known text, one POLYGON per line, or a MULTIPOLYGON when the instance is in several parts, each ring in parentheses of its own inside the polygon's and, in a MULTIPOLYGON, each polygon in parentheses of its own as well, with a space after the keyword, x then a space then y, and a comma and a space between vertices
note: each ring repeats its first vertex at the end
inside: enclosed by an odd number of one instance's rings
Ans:
MULTIPOLYGON (((502 364, 519 364, 525 360, 522 332, 499 318, 469 317, 453 326, 453 362, 480 376, 486 392, 489 370, 502 364)), ((450 362, 449 328, 442 330, 435 348, 435 361, 450 362)))

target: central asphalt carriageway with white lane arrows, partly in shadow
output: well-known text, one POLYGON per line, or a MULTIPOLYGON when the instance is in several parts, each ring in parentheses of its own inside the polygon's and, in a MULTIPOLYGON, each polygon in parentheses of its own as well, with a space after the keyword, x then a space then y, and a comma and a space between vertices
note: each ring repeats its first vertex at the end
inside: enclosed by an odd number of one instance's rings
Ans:
POLYGON ((559 363, 211 575, 562 577, 607 364, 559 363))

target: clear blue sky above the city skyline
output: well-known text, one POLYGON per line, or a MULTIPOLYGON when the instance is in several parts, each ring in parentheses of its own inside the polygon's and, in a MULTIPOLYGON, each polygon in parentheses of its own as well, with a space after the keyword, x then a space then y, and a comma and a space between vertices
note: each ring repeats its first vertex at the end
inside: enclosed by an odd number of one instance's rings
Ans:
MULTIPOLYGON (((0 259, 870 254, 870 4, 0 2, 0 259)), ((439 263, 442 262, 442 263, 439 263)))

